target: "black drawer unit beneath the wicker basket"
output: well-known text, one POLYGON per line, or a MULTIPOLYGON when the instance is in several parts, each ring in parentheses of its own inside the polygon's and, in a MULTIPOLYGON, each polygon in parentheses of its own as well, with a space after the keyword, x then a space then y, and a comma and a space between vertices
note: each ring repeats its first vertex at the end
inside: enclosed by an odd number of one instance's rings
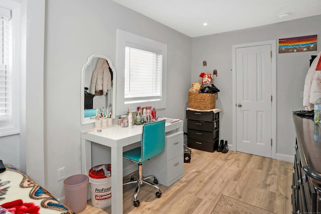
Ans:
POLYGON ((186 118, 188 147, 214 152, 219 145, 219 112, 186 110, 186 118))

